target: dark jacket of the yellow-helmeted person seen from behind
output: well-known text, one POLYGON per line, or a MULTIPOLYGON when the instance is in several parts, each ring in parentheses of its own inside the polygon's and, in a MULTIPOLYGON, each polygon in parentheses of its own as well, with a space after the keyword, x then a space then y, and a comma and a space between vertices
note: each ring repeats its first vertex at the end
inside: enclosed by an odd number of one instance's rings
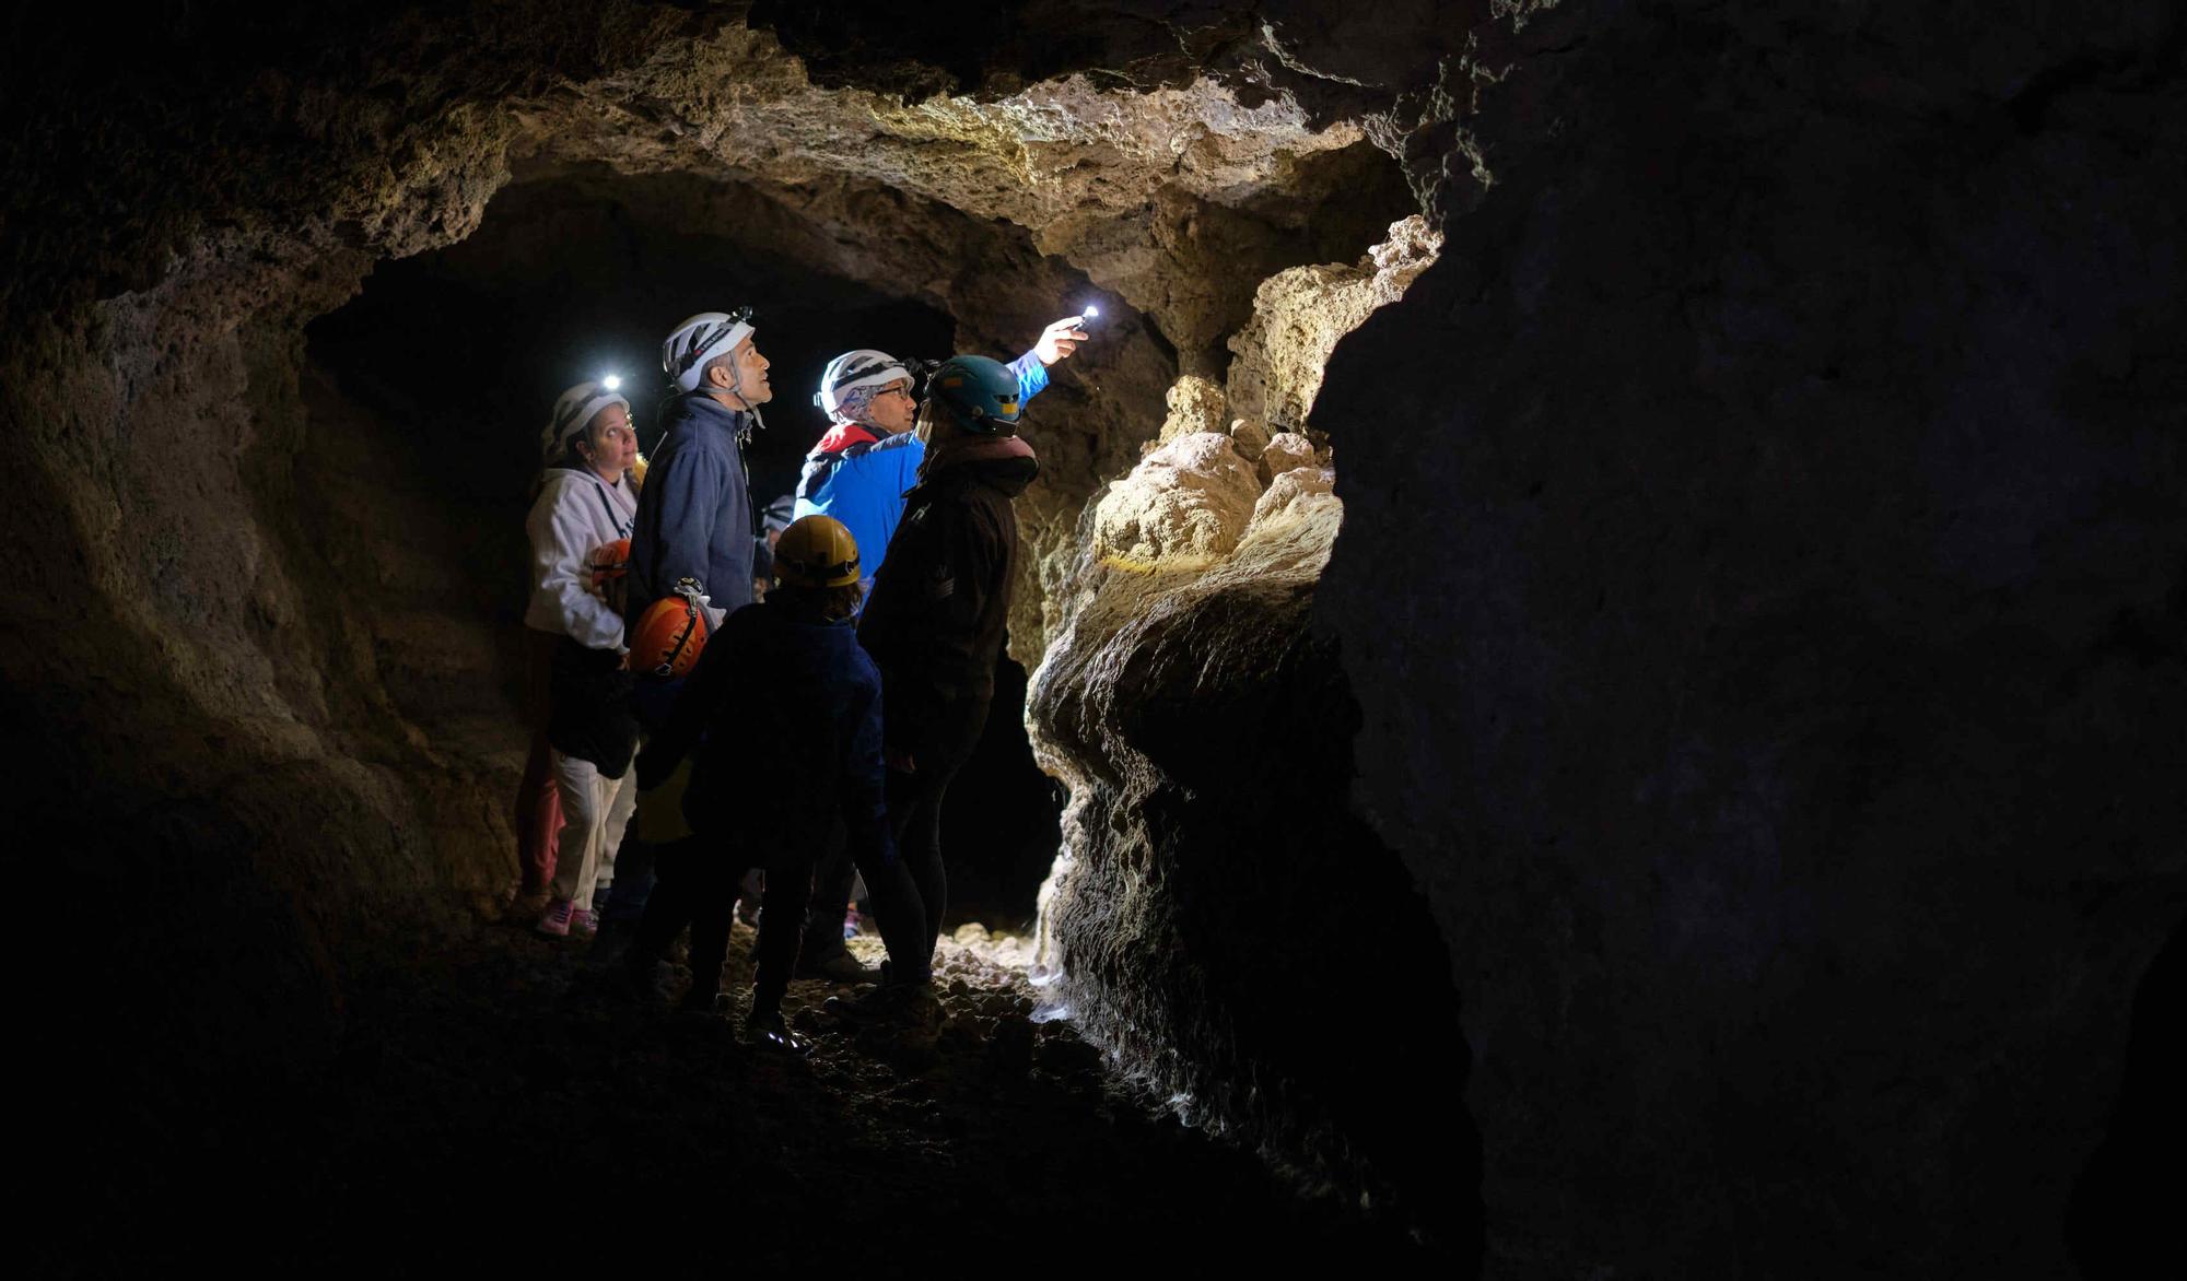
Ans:
POLYGON ((687 752, 691 831, 737 842, 755 863, 811 846, 835 818, 857 859, 894 859, 881 767, 881 673, 849 623, 807 623, 776 606, 730 614, 698 658, 660 732, 639 754, 639 787, 687 752))

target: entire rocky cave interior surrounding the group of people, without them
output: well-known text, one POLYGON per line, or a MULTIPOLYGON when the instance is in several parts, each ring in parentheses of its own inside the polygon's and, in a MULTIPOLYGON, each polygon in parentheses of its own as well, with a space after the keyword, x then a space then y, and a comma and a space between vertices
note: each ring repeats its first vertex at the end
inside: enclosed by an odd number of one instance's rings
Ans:
POLYGON ((20 11, 0 90, 44 1270, 2167 1242, 2174 7, 98 22, 20 11), (538 426, 617 372, 652 444, 737 304, 761 503, 831 354, 1102 310, 943 1014, 800 982, 809 1058, 499 920, 538 426))

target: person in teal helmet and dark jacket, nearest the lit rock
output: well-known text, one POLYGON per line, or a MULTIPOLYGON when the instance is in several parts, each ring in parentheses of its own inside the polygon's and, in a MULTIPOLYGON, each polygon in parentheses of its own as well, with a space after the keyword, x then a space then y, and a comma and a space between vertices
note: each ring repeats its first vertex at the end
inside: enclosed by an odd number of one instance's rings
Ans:
POLYGON ((1021 409, 1017 376, 999 361, 954 356, 934 372, 919 411, 927 457, 859 621, 859 643, 881 669, 888 822, 925 927, 919 964, 890 947, 899 988, 932 973, 949 888, 943 796, 995 697, 1019 557, 1010 501, 1039 474, 1032 446, 1017 437, 1021 409))

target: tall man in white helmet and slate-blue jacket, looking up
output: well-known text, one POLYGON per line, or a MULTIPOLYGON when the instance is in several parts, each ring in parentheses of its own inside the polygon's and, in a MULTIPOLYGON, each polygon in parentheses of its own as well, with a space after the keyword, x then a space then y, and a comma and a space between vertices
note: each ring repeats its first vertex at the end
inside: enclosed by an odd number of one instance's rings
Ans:
MULTIPOLYGON (((765 426, 759 407, 774 398, 768 359, 752 343, 752 308, 709 310, 676 326, 660 343, 660 369, 676 385, 660 422, 630 531, 623 621, 632 634, 654 601, 682 579, 704 595, 706 625, 752 599, 752 520, 744 446, 765 426)), ((632 706, 650 732, 669 715, 680 678, 639 673, 632 706)), ((652 855, 632 842, 617 857, 604 922, 628 925, 652 892, 652 855)))

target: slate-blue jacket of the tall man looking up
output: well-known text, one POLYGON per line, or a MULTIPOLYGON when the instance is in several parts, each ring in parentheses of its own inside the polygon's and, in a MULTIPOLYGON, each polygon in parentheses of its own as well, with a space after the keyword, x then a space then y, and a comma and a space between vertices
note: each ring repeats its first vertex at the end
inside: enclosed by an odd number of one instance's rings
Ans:
POLYGON ((752 498, 746 494, 741 437, 752 415, 693 391, 669 402, 630 531, 634 634, 645 608, 698 579, 717 610, 752 603, 752 498))

